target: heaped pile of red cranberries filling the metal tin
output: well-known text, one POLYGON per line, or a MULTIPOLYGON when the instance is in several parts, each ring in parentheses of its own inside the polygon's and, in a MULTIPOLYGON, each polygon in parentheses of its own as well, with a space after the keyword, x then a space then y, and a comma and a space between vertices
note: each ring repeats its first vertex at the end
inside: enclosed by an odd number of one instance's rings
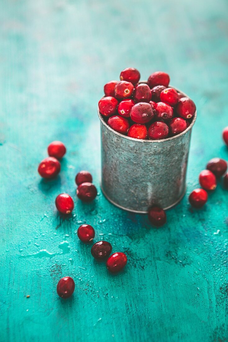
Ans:
POLYGON ((139 79, 137 69, 126 68, 120 81, 105 84, 98 108, 107 124, 135 139, 165 139, 185 131, 196 112, 194 102, 169 87, 170 77, 163 71, 147 82, 139 79))

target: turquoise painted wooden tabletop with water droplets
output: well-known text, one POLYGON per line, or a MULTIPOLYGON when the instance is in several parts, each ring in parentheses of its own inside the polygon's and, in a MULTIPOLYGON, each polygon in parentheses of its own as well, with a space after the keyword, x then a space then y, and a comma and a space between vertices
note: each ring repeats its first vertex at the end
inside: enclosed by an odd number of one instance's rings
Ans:
POLYGON ((202 210, 188 195, 206 162, 228 159, 226 0, 37 0, 1 2, 0 11, 0 340, 228 341, 228 193, 219 184, 202 210), (187 194, 152 228, 146 215, 112 206, 99 188, 96 107, 103 85, 128 66, 156 70, 196 102, 187 194), (61 174, 37 173, 53 140, 66 144, 61 174), (91 204, 74 177, 89 170, 91 204), (68 219, 55 197, 69 193, 68 219), (76 235, 82 223, 128 255, 117 275, 76 235), (56 294, 72 276, 69 300, 56 294), (29 298, 26 298, 30 295, 29 298))

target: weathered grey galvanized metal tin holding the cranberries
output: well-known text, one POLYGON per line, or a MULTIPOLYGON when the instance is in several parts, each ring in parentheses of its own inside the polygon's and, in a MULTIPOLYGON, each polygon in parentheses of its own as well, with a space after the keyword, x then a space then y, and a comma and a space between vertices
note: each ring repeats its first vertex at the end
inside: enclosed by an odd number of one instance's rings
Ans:
MULTIPOLYGON (((187 96, 183 94, 183 96, 187 96)), ((111 129, 99 113, 101 188, 105 197, 124 210, 146 213, 152 205, 175 206, 186 191, 191 129, 162 140, 139 140, 111 129)))

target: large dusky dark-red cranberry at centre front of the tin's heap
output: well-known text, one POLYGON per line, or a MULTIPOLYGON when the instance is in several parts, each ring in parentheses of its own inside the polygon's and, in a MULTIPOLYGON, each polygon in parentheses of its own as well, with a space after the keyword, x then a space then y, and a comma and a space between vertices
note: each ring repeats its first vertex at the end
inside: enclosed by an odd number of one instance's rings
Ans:
POLYGON ((155 109, 146 102, 136 103, 131 110, 131 119, 136 123, 147 123, 155 117, 155 109))

